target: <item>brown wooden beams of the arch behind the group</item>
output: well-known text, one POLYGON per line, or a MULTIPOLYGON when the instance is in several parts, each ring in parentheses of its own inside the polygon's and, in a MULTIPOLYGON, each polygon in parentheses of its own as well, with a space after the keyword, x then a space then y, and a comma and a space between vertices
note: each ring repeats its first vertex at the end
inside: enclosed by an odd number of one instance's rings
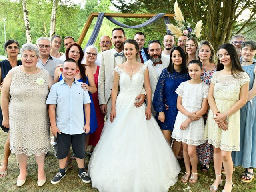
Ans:
MULTIPOLYGON (((77 43, 79 45, 82 44, 84 37, 86 36, 86 33, 92 24, 92 20, 94 17, 98 17, 99 13, 90 13, 86 24, 84 25, 84 28, 82 30, 82 33, 80 34, 80 37, 78 38, 77 43)), ((156 14, 140 14, 140 13, 105 13, 105 16, 110 16, 110 17, 127 17, 127 18, 152 18, 156 14)), ((169 18, 174 18, 175 14, 165 14, 163 17, 169 17, 169 18)))

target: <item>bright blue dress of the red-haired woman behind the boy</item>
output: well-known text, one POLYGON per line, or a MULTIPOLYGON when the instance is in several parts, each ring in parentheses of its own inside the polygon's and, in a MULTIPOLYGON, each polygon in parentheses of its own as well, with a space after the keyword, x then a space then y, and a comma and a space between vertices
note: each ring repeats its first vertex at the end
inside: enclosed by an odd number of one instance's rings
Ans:
MULTIPOLYGON (((62 74, 59 78, 59 80, 62 80, 63 77, 62 77, 62 74)), ((83 82, 83 83, 86 83, 89 85, 89 82, 88 82, 88 78, 86 77, 86 82, 84 82, 83 78, 77 80, 79 82, 83 82)), ((91 100, 91 103, 90 103, 90 107, 91 107, 91 115, 90 115, 90 132, 88 134, 91 134, 93 133, 94 131, 96 131, 96 129, 98 128, 98 123, 97 123, 97 117, 96 117, 96 111, 95 111, 95 108, 94 108, 94 104, 93 104, 93 100, 92 100, 92 94, 89 93, 89 96, 90 96, 90 100, 91 100)), ((85 122, 85 117, 84 117, 84 122, 85 122)))

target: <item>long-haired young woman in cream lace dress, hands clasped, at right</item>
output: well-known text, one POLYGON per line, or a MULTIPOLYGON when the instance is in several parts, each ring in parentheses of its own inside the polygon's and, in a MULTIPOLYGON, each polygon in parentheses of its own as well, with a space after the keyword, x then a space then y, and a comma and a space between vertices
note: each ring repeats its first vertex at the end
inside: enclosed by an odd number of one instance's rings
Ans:
POLYGON ((205 126, 204 138, 214 146, 214 170, 216 179, 210 186, 218 190, 222 184, 221 166, 226 172, 223 192, 230 192, 232 183, 232 151, 239 151, 240 108, 246 104, 249 76, 242 69, 236 49, 226 43, 218 49, 219 61, 208 93, 210 110, 205 126))

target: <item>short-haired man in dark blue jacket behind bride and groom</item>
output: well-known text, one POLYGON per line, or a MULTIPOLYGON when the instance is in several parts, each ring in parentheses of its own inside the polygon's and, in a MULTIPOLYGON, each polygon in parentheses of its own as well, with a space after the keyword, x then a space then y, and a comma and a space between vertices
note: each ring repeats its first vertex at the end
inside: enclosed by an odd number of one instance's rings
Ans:
POLYGON ((134 36, 134 40, 136 40, 136 42, 139 45, 139 54, 140 54, 140 59, 142 61, 142 63, 145 63, 147 60, 149 60, 149 55, 148 55, 148 48, 144 48, 144 44, 145 44, 145 35, 142 32, 137 32, 134 36))

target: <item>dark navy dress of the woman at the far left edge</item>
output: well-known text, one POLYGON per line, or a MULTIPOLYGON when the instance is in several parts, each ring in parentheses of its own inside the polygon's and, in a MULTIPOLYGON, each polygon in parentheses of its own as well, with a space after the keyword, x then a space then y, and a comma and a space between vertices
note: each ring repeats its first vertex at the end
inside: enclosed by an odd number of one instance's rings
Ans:
MULTIPOLYGON (((18 60, 17 66, 22 65, 22 62, 18 60)), ((1 67, 1 83, 3 82, 4 78, 8 74, 8 72, 12 69, 12 66, 8 60, 2 60, 0 61, 0 67, 1 67)), ((6 129, 4 126, 2 126, 3 122, 3 114, 2 110, 0 110, 0 126, 4 132, 9 132, 9 129, 6 129)))

